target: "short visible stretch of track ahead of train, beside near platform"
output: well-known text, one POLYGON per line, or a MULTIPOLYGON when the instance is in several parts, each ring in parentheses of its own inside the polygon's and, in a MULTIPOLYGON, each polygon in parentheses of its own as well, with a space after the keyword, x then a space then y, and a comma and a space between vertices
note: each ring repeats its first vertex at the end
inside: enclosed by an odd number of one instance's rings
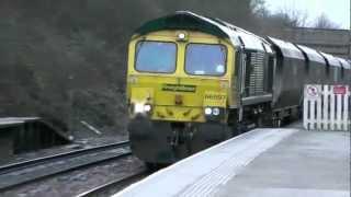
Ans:
POLYGON ((84 193, 81 193, 77 195, 76 197, 100 197, 100 196, 111 196, 118 190, 123 189, 124 187, 140 181, 141 178, 149 175, 150 172, 146 169, 140 169, 139 171, 134 172, 133 174, 129 174, 124 177, 120 177, 116 179, 113 179, 109 183, 105 183, 103 185, 99 185, 90 190, 87 190, 84 193))

